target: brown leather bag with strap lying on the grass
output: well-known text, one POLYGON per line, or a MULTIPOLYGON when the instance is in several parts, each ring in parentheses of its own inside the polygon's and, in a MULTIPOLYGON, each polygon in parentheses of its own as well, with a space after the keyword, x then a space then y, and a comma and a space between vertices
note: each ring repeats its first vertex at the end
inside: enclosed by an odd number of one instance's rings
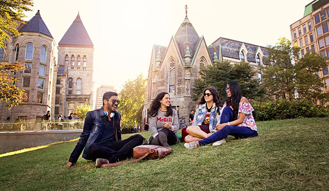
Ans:
POLYGON ((147 159, 160 159, 165 157, 166 155, 169 155, 173 152, 173 150, 170 147, 161 147, 161 146, 156 146, 156 145, 141 145, 137 146, 133 149, 133 155, 135 160, 130 160, 130 161, 121 161, 121 162, 115 162, 115 163, 110 163, 110 164, 102 164, 101 168, 105 166, 119 166, 124 163, 132 163, 132 162, 137 162, 139 160, 142 160, 147 157, 147 159))

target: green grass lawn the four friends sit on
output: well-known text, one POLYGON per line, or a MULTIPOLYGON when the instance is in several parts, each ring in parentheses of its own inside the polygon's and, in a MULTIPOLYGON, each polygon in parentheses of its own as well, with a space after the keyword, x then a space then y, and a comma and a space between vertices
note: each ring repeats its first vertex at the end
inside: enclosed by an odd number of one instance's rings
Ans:
POLYGON ((76 142, 1 157, 0 190, 329 190, 329 118, 257 127, 258 137, 194 150, 181 143, 160 160, 102 169, 81 156, 63 168, 76 142))

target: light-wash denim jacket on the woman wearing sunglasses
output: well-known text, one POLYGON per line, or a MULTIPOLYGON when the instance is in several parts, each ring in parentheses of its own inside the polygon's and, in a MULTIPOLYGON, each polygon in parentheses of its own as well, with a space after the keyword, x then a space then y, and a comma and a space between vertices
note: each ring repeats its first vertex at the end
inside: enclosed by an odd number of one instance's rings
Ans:
MULTIPOLYGON (((206 104, 199 104, 195 109, 195 114, 193 118, 192 125, 202 125, 205 115, 207 114, 206 104)), ((210 109, 210 118, 209 118, 209 130, 210 132, 216 132, 216 125, 220 123, 220 115, 216 112, 217 110, 221 110, 222 108, 217 108, 214 103, 212 108, 210 109)))

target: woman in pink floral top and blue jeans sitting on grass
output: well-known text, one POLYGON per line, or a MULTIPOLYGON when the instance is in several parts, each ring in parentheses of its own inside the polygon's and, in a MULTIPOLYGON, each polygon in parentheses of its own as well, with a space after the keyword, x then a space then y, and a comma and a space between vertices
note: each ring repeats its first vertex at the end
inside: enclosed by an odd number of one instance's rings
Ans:
POLYGON ((211 144, 222 140, 227 135, 236 138, 255 137, 257 126, 252 116, 253 108, 245 97, 241 96, 241 86, 237 81, 229 81, 226 86, 227 98, 223 105, 220 124, 216 126, 217 132, 199 141, 186 142, 186 149, 211 144))

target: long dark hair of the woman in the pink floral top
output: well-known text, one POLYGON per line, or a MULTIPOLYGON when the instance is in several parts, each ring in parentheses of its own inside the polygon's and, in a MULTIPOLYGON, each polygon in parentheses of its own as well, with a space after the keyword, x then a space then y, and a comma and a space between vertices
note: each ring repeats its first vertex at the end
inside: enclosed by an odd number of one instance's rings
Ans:
POLYGON ((232 106, 233 108, 233 114, 234 114, 234 120, 238 118, 239 114, 239 103, 242 97, 241 94, 241 86, 239 82, 235 80, 228 81, 227 84, 229 85, 229 89, 231 91, 231 97, 226 98, 226 105, 232 106))

